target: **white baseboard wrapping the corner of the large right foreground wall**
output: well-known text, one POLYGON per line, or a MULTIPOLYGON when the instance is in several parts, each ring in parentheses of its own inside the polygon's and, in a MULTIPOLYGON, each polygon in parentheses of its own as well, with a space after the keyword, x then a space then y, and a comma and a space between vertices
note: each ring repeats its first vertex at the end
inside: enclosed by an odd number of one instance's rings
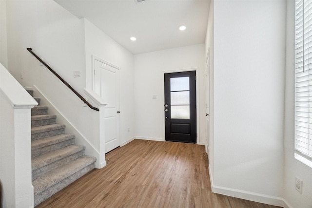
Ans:
MULTIPOLYGON (((209 166, 209 172, 211 172, 210 166, 209 166)), ((240 199, 250 200, 254 202, 259 202, 263 204, 269 204, 269 205, 274 205, 274 206, 279 206, 279 207, 284 207, 284 208, 292 208, 285 201, 285 199, 281 197, 275 197, 275 196, 255 193, 251 191, 239 190, 239 189, 232 189, 228 187, 216 186, 214 184, 214 178, 212 174, 209 174, 209 175, 210 175, 210 181, 211 181, 211 187, 212 187, 213 193, 218 193, 218 194, 222 194, 226 196, 232 196, 232 197, 236 197, 240 199)))

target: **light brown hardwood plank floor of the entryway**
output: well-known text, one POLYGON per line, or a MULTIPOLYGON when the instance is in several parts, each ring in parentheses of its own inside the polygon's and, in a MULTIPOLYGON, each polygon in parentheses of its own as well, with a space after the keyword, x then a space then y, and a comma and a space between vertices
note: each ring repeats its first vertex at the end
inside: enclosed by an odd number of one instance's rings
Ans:
POLYGON ((201 145, 137 140, 37 208, 277 208, 211 192, 201 145))

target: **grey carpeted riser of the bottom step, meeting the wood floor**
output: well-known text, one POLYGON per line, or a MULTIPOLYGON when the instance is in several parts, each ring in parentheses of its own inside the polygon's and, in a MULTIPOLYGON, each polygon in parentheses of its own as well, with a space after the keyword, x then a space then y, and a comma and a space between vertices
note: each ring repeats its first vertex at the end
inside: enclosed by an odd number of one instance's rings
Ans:
POLYGON ((78 178, 82 177, 83 175, 85 175, 86 173, 88 173, 89 171, 91 171, 93 169, 95 169, 95 162, 90 164, 89 166, 79 170, 78 172, 71 175, 70 177, 60 181, 58 184, 52 186, 51 188, 46 189, 39 194, 35 194, 35 196, 34 196, 34 204, 35 205, 34 206, 36 207, 41 202, 48 199, 50 196, 59 192, 61 189, 64 189, 65 187, 67 187, 68 185, 70 185, 71 183, 76 181, 78 178))

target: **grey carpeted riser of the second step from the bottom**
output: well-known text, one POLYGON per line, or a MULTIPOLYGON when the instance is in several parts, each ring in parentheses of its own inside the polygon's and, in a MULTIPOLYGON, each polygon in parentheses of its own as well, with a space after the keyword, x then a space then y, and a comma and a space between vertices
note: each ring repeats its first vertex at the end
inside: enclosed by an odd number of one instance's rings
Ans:
POLYGON ((47 173, 50 170, 56 169, 61 165, 64 165, 70 161, 73 161, 75 159, 77 159, 78 157, 81 157, 82 155, 84 155, 84 150, 83 151, 78 151, 72 155, 69 155, 67 157, 61 158, 53 163, 50 163, 46 166, 43 166, 37 170, 33 170, 32 171, 32 180, 35 180, 37 177, 39 177, 40 175, 43 175, 44 173, 47 173))

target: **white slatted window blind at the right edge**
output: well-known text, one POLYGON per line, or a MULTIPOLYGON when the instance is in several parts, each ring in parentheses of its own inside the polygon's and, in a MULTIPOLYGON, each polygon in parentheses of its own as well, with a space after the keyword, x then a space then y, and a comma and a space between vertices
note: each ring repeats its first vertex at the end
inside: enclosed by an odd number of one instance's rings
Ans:
POLYGON ((295 150, 312 158, 312 0, 295 7, 295 150))

